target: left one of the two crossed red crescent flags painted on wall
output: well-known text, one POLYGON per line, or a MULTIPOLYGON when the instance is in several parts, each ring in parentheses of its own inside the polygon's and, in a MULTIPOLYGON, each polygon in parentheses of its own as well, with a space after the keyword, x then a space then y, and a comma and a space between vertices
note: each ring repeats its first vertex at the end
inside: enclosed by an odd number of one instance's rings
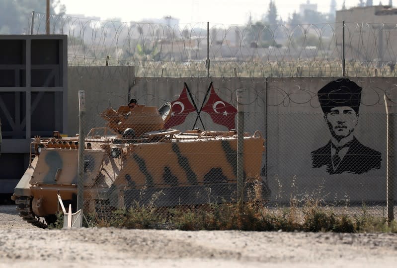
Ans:
POLYGON ((173 126, 177 126, 185 122, 185 119, 188 114, 191 112, 195 112, 194 106, 189 101, 187 97, 186 86, 183 87, 182 92, 179 95, 179 98, 173 102, 171 102, 172 113, 171 117, 164 124, 164 129, 172 128, 173 126))

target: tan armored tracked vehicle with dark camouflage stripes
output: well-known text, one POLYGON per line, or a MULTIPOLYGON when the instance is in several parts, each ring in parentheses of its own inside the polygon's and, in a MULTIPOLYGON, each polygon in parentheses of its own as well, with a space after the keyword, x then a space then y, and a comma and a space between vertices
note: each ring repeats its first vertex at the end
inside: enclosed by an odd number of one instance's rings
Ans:
MULTIPOLYGON (((202 204, 236 197, 237 133, 201 131, 181 133, 163 129, 171 105, 127 106, 107 109, 106 126, 79 137, 36 136, 31 162, 12 199, 20 216, 45 228, 60 211, 57 194, 76 210, 78 151, 84 146, 84 212, 145 205, 202 204), (156 198, 154 199, 154 196, 156 198), (40 221, 44 218, 44 221, 40 221)), ((245 195, 260 185, 264 139, 259 132, 243 137, 245 195)), ((266 195, 267 193, 262 193, 266 195)))

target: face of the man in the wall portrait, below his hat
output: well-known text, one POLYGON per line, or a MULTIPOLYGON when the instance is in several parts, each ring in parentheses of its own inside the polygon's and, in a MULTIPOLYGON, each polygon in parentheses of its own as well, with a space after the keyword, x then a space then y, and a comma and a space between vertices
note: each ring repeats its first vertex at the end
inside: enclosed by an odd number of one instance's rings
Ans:
POLYGON ((331 135, 340 140, 350 135, 357 126, 358 116, 351 107, 339 106, 332 108, 326 115, 325 121, 331 135))

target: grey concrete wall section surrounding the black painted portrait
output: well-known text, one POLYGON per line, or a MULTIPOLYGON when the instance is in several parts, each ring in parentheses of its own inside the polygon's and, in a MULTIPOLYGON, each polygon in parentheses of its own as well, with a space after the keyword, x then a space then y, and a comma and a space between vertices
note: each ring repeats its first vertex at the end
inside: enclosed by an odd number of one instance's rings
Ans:
MULTIPOLYGON (((351 78, 363 87, 357 139, 381 152, 380 169, 330 175, 312 167, 311 152, 331 138, 317 91, 331 79, 270 78, 267 114, 267 179, 273 197, 288 202, 316 194, 327 201, 382 201, 386 196, 386 114, 384 95, 395 99, 396 79, 351 78), (393 96, 392 96, 393 95, 393 96)), ((394 107, 395 109, 395 107, 394 107)), ((397 192, 396 192, 397 193, 397 192)))

